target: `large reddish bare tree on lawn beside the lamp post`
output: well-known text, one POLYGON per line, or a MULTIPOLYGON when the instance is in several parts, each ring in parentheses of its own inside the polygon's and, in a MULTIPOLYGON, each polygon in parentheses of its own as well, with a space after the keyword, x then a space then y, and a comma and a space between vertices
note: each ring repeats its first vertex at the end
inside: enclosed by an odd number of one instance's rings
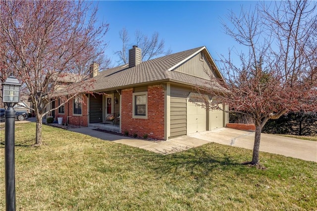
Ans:
POLYGON ((81 83, 85 75, 70 73, 100 55, 96 47, 106 45, 102 37, 108 25, 97 25, 97 7, 91 8, 88 1, 1 0, 0 9, 1 73, 13 72, 30 94, 37 121, 35 145, 41 145, 42 118, 60 95, 56 79, 77 81, 72 90, 65 88, 72 93, 65 103, 87 89, 81 83))

